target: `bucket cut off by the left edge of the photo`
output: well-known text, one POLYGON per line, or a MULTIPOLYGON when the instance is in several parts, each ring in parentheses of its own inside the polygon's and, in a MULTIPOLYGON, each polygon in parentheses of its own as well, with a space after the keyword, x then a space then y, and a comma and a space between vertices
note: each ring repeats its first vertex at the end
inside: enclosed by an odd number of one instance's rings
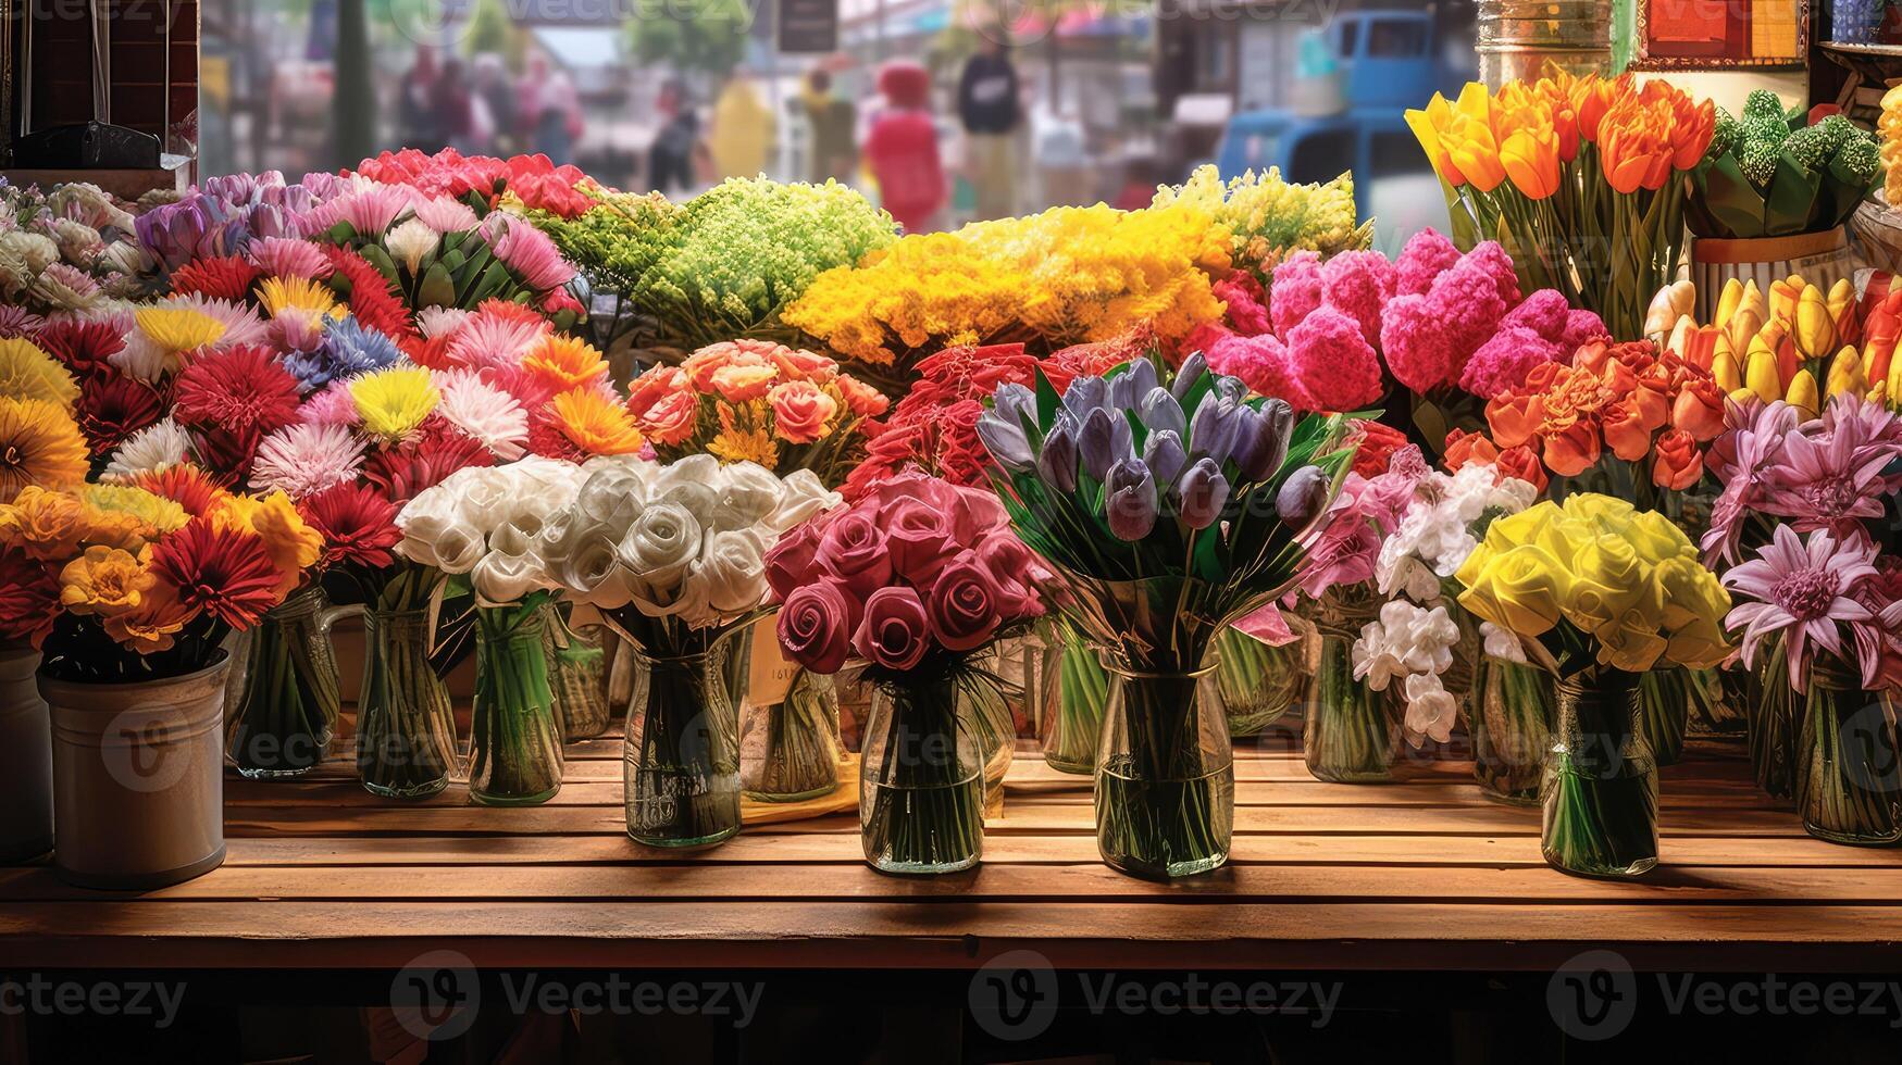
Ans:
POLYGON ((0 863, 53 850, 53 728, 38 669, 38 650, 0 647, 0 863))

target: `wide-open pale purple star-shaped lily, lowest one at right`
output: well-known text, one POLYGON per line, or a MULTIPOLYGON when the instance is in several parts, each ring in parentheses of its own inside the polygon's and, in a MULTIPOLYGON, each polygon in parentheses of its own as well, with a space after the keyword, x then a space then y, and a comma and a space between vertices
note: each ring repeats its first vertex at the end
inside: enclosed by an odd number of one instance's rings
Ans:
MULTIPOLYGON (((1875 614, 1854 599, 1856 586, 1875 578, 1875 544, 1862 531, 1837 540, 1824 529, 1803 540, 1788 525, 1778 525, 1771 542, 1757 557, 1723 574, 1723 586, 1754 599, 1731 607, 1723 624, 1742 631, 1744 666, 1756 668, 1765 637, 1782 633, 1790 662, 1790 683, 1803 690, 1815 649, 1847 658, 1843 624, 1851 629, 1879 624, 1875 614)), ((1856 633, 1862 643, 1868 637, 1856 633)), ((1868 668, 1868 664, 1864 664, 1868 668)))

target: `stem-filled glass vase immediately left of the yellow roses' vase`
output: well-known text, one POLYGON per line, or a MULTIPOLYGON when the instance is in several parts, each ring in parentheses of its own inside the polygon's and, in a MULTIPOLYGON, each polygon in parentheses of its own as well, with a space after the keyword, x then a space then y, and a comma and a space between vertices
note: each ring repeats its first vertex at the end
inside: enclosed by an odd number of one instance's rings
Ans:
POLYGON ((1472 706, 1472 776, 1497 803, 1539 804, 1539 780, 1552 749, 1552 675, 1524 662, 1485 656, 1472 706))

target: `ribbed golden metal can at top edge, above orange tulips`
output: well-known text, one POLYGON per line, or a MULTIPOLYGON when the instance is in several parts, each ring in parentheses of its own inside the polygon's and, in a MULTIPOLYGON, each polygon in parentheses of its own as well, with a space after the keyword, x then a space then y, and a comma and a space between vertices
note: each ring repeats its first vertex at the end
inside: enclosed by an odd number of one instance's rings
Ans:
POLYGON ((1550 68, 1611 68, 1611 0, 1480 0, 1480 80, 1489 89, 1550 68))

